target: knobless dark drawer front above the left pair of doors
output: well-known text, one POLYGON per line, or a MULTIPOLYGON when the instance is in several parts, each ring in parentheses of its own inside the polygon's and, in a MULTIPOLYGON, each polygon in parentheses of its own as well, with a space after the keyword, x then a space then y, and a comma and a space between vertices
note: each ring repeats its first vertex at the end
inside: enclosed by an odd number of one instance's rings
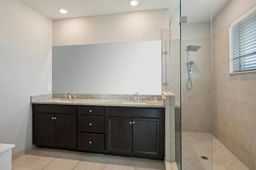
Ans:
POLYGON ((76 114, 76 106, 36 104, 35 111, 36 113, 76 114))

